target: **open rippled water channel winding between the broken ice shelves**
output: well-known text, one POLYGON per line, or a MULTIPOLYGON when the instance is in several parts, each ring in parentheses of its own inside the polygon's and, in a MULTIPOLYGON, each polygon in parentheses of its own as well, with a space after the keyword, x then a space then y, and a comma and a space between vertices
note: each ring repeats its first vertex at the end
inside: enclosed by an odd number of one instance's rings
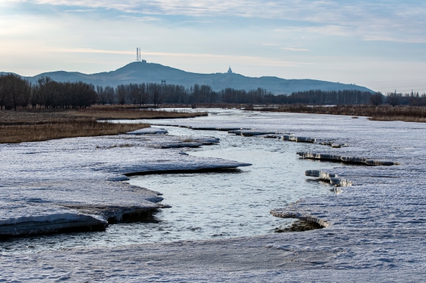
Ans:
MULTIPOLYGON (((295 152, 321 145, 241 137, 219 131, 164 127, 171 135, 215 136, 219 145, 183 149, 189 155, 249 162, 231 172, 133 176, 130 184, 163 193, 164 204, 148 218, 124 219, 106 231, 39 235, 2 240, 1 253, 26 253, 87 246, 117 246, 159 241, 227 238, 275 233, 290 219, 271 216, 271 209, 306 196, 332 194, 321 182, 307 182, 305 170, 341 166, 302 160, 295 152)), ((180 149, 182 150, 182 149, 180 149)))

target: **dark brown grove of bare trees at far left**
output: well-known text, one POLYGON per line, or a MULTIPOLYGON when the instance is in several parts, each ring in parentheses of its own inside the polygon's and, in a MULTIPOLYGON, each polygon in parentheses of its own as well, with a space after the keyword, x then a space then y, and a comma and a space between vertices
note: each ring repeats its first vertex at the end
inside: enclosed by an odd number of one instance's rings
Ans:
POLYGON ((92 84, 55 82, 40 77, 35 84, 16 74, 0 76, 0 110, 26 108, 81 108, 95 104, 97 93, 92 84))

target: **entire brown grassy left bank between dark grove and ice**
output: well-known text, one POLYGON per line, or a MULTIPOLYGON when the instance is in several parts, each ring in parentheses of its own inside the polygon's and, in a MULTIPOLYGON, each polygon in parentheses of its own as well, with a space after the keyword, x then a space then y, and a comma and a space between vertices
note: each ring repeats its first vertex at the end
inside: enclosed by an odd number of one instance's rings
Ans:
POLYGON ((205 112, 161 111, 134 107, 92 106, 83 109, 18 109, 0 111, 0 143, 23 143, 59 138, 117 135, 149 128, 143 123, 109 123, 99 120, 191 118, 205 112))

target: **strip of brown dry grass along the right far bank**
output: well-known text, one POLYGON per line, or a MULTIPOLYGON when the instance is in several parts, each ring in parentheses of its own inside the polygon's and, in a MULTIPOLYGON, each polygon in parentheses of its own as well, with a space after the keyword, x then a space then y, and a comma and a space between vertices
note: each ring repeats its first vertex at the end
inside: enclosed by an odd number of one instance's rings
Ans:
POLYGON ((301 104, 291 104, 276 107, 246 108, 246 110, 346 115, 352 116, 352 118, 355 118, 357 116, 368 116, 371 117, 370 120, 373 121, 426 122, 426 107, 420 106, 306 106, 301 104))

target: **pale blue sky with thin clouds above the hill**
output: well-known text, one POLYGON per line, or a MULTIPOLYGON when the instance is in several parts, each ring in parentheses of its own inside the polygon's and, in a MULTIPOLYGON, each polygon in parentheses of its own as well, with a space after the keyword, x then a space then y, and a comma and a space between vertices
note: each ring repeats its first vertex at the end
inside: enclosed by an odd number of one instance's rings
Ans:
POLYGON ((0 72, 187 72, 426 92, 426 1, 0 0, 0 72))

